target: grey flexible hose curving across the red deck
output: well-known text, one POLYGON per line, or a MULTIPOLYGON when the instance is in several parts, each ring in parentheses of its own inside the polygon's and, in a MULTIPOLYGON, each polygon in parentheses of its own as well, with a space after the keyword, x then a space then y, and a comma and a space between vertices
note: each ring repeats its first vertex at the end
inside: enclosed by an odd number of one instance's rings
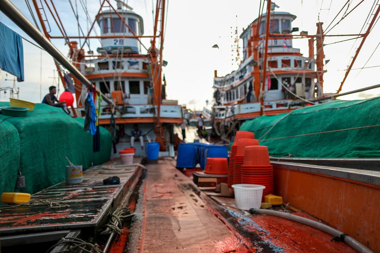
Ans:
POLYGON ((370 250, 369 248, 367 248, 366 246, 364 246, 357 240, 353 239, 351 236, 348 236, 347 234, 344 234, 343 232, 335 228, 331 228, 330 226, 327 226, 317 221, 310 220, 308 218, 304 218, 298 215, 293 215, 291 213, 285 213, 285 212, 279 212, 279 211, 267 210, 267 209, 251 208, 249 209, 249 212, 252 214, 267 214, 267 215, 277 216, 284 219, 296 221, 296 222, 311 226, 313 228, 319 229, 328 234, 331 234, 332 236, 334 236, 334 238, 335 237, 339 238, 340 240, 350 245, 353 249, 355 249, 356 251, 360 253, 374 253, 372 250, 370 250))

